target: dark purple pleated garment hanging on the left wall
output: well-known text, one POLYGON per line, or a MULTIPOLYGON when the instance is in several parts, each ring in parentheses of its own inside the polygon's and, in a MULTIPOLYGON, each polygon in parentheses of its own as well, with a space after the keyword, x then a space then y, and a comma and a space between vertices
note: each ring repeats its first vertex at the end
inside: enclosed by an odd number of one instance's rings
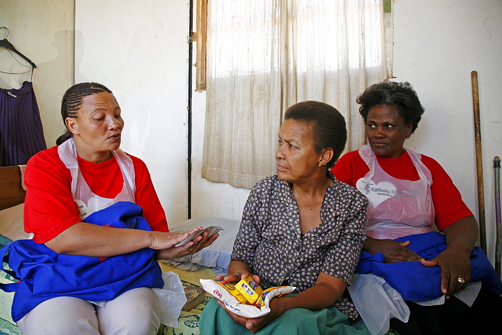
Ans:
POLYGON ((0 166, 26 164, 47 149, 33 84, 0 88, 0 166))

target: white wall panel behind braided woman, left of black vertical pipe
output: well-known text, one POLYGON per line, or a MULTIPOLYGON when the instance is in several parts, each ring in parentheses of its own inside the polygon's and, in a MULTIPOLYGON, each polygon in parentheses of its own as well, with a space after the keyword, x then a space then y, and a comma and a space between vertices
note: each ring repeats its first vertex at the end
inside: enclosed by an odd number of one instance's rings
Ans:
POLYGON ((187 217, 188 2, 77 0, 75 82, 111 89, 121 148, 143 159, 169 222, 187 217))

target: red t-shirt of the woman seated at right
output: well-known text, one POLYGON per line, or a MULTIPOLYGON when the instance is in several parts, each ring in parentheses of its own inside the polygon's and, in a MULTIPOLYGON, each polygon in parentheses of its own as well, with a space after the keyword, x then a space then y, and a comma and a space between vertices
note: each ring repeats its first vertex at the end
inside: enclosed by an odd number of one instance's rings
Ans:
MULTIPOLYGON (((352 187, 355 187, 357 181, 369 172, 368 166, 362 160, 358 151, 347 152, 331 169, 338 181, 352 187)), ((375 156, 382 169, 392 177, 409 181, 420 179, 407 151, 399 158, 375 156)), ((442 166, 426 155, 422 155, 422 162, 432 175, 431 194, 438 229, 442 230, 457 220, 472 215, 472 212, 462 201, 460 192, 453 185, 451 178, 446 174, 442 166)))

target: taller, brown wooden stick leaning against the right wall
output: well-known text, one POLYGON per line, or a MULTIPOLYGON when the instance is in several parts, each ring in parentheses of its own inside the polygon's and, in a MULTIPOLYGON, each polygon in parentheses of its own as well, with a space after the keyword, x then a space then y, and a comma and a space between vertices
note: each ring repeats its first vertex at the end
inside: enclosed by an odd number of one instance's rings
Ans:
POLYGON ((477 202, 479 213, 479 239, 481 249, 486 254, 486 226, 484 221, 483 154, 481 151, 481 124, 479 119, 479 91, 477 71, 471 72, 472 104, 474 107, 474 137, 476 142, 477 202))

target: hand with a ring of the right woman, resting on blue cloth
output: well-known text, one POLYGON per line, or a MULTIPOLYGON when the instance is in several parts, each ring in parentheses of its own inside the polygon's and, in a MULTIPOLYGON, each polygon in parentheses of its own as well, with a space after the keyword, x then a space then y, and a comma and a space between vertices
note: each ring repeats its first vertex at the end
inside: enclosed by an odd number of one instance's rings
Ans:
POLYGON ((422 264, 429 267, 441 267, 441 291, 447 299, 450 295, 465 289, 469 284, 469 255, 463 255, 447 248, 430 261, 422 260, 422 264))

